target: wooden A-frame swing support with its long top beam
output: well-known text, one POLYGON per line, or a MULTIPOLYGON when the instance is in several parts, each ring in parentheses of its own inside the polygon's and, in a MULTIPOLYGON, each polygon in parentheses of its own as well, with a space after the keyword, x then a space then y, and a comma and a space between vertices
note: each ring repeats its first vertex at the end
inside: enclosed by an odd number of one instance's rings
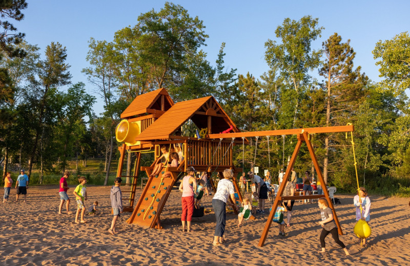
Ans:
POLYGON ((313 165, 316 169, 318 179, 322 184, 324 195, 305 195, 305 196, 285 196, 282 197, 284 188, 286 184, 289 182, 289 175, 291 171, 286 171, 285 176, 283 177, 283 181, 279 186, 277 196, 275 198, 275 202, 273 203, 272 210, 269 214, 268 220, 265 224, 265 227, 262 231, 262 235, 259 239, 258 246, 263 247, 265 240, 268 236, 269 230, 272 225, 273 216, 275 215, 276 208, 279 205, 279 201, 286 201, 286 200, 302 200, 302 199, 314 199, 314 198, 322 198, 325 197, 327 202, 329 203, 330 208, 333 210, 333 217, 336 222, 336 226, 338 228, 338 233, 340 235, 343 234, 341 229, 339 220, 336 215, 336 211, 333 207, 333 203, 329 197, 329 192, 327 191, 326 184, 324 183, 322 171, 320 169, 319 163, 316 159, 316 154, 313 150, 312 143, 309 140, 309 134, 316 134, 316 133, 330 133, 330 132, 351 132, 354 131, 353 125, 346 125, 346 126, 334 126, 334 127, 312 127, 312 128, 299 128, 299 129, 283 129, 283 130, 269 130, 269 131, 254 131, 254 132, 241 132, 241 133, 230 133, 230 134, 212 134, 209 135, 209 138, 233 138, 233 137, 256 137, 256 136, 279 136, 279 135, 297 135, 298 142, 296 143, 295 150, 293 151, 292 158, 289 161, 288 168, 292 169, 296 162, 296 158, 298 156, 300 147, 302 142, 306 143, 308 147, 309 153, 311 155, 313 165))

